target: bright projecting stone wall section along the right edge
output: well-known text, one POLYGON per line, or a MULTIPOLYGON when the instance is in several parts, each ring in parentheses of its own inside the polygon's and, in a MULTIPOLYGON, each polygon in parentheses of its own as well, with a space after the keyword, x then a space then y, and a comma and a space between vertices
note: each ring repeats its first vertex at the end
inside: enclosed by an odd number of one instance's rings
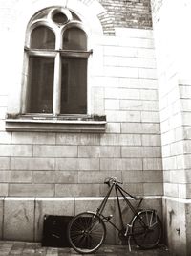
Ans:
POLYGON ((189 255, 191 80, 187 30, 190 29, 190 3, 152 1, 152 10, 159 78, 166 241, 173 255, 189 255))

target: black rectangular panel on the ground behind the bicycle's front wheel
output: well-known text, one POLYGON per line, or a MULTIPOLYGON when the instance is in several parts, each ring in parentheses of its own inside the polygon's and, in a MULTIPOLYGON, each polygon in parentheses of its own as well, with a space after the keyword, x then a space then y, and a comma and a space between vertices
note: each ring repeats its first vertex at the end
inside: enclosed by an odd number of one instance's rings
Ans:
POLYGON ((42 246, 70 247, 67 238, 67 226, 72 218, 72 216, 45 215, 42 246))

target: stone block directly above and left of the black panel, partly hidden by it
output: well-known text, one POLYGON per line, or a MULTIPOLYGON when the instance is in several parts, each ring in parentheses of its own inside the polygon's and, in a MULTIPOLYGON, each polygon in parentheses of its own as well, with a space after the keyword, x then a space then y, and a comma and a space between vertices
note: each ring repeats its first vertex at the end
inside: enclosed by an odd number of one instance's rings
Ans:
POLYGON ((44 215, 74 216, 74 198, 36 198, 34 240, 41 241, 44 215))

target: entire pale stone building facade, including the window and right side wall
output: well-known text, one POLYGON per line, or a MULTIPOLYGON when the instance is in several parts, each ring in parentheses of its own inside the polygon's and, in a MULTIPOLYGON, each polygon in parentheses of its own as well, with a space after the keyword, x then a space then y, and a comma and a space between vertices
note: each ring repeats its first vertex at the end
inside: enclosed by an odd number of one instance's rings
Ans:
POLYGON ((40 241, 45 214, 96 209, 116 176, 189 255, 190 4, 163 2, 1 2, 2 239, 40 241))

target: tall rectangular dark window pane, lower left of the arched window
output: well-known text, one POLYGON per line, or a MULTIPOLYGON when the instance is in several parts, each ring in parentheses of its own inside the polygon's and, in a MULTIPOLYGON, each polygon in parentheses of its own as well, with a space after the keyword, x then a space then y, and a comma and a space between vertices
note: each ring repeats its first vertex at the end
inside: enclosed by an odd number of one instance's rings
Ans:
POLYGON ((28 112, 53 113, 53 69, 54 58, 30 58, 28 112))

